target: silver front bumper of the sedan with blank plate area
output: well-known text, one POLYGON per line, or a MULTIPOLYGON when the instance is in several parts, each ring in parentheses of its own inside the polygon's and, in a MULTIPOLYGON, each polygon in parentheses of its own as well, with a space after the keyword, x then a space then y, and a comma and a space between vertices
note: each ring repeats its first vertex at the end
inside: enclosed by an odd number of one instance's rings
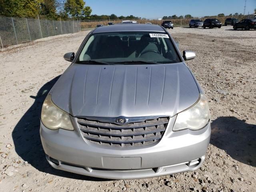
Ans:
POLYGON ((92 144, 79 130, 49 130, 41 122, 46 159, 56 169, 109 179, 162 176, 199 168, 210 142, 210 123, 201 130, 172 132, 170 119, 157 144, 116 148, 92 144))

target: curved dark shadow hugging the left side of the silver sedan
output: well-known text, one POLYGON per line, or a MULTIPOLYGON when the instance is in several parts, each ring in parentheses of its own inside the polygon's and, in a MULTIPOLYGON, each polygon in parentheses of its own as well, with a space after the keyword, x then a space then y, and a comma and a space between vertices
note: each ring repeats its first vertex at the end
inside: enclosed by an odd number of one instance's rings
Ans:
POLYGON ((57 76, 44 84, 38 90, 36 96, 30 96, 34 98, 34 103, 25 112, 12 132, 15 151, 20 158, 41 172, 78 180, 106 181, 107 179, 83 176, 54 169, 48 164, 45 158, 39 133, 40 114, 44 99, 59 77, 57 76))

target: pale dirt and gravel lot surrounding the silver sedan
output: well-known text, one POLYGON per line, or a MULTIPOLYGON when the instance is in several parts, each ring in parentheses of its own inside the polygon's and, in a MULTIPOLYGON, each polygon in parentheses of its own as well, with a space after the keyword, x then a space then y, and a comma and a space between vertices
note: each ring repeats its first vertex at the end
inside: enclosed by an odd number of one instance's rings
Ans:
POLYGON ((255 192, 256 30, 174 28, 180 50, 208 95, 212 137, 195 172, 140 180, 104 180, 55 170, 39 136, 42 102, 70 64, 87 31, 38 40, 0 52, 0 192, 203 191, 255 192))

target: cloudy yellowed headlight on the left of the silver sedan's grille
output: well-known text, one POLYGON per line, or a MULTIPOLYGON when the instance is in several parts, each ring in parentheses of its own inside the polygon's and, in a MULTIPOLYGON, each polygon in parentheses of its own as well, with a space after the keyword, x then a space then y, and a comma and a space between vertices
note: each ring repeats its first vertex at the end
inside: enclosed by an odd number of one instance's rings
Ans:
POLYGON ((69 114, 54 105, 50 95, 44 100, 41 120, 44 126, 52 130, 59 128, 74 130, 69 114))

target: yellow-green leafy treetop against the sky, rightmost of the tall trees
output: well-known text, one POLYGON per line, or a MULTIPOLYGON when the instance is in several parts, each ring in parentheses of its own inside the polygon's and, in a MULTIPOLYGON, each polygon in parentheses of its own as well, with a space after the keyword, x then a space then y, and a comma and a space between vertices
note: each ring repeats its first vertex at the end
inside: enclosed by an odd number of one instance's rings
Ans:
POLYGON ((85 6, 83 0, 67 0, 64 4, 64 10, 72 17, 90 16, 92 9, 85 6))

